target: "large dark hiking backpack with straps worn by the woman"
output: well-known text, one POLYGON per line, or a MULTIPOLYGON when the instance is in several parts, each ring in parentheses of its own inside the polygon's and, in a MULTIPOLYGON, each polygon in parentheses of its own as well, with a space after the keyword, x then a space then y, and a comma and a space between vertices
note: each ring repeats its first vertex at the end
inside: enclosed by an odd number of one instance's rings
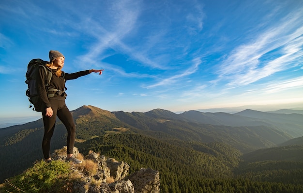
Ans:
MULTIPOLYGON (((34 105, 33 111, 42 112, 44 105, 39 97, 38 91, 37 91, 37 78, 39 76, 39 66, 42 66, 45 70, 45 90, 47 92, 48 98, 55 96, 57 92, 64 93, 65 91, 59 91, 57 89, 49 89, 50 80, 52 77, 52 71, 49 67, 47 67, 45 64, 47 64, 46 61, 41 59, 32 59, 30 63, 28 64, 28 70, 26 72, 26 80, 25 83, 28 85, 28 89, 26 91, 26 96, 29 97, 29 101, 31 104, 34 105)), ((64 78, 64 72, 62 72, 63 79, 64 78)), ((66 90, 66 88, 65 88, 66 90)), ((32 105, 30 105, 29 108, 31 108, 32 105)))

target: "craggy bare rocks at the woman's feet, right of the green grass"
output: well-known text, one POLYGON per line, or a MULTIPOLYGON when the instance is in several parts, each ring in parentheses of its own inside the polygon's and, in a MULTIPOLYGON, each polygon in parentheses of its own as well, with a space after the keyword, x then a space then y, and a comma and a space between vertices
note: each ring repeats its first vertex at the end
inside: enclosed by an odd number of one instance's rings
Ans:
MULTIPOLYGON (((65 160, 65 152, 65 149, 55 151, 51 157, 53 160, 65 160)), ((79 151, 74 147, 74 156, 78 155, 79 151)), ((124 161, 106 159, 105 156, 90 152, 84 157, 83 163, 72 166, 81 176, 73 185, 73 193, 160 193, 158 171, 141 168, 128 175, 129 168, 124 161)))

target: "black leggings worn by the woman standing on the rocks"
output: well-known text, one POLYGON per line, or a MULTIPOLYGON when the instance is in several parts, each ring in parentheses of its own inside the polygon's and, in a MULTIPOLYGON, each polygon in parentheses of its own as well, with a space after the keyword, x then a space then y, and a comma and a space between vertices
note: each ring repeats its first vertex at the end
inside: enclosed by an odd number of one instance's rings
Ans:
POLYGON ((42 112, 43 123, 44 123, 44 136, 42 141, 42 150, 45 159, 50 158, 50 139, 53 136, 56 118, 62 121, 65 128, 67 129, 67 154, 73 154, 76 138, 76 125, 74 123, 71 112, 65 105, 65 100, 49 99, 51 108, 53 110, 53 116, 45 116, 45 110, 42 112))

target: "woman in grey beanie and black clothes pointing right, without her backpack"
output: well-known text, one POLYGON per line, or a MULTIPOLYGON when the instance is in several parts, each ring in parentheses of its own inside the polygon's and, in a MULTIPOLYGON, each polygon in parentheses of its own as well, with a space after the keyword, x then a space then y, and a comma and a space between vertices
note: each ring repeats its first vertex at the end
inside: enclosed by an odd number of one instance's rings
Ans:
POLYGON ((44 123, 44 137, 42 141, 42 150, 44 159, 47 162, 51 161, 50 158, 50 140, 53 135, 55 124, 56 124, 56 116, 62 121, 64 126, 67 129, 67 161, 72 161, 74 163, 81 163, 82 161, 73 157, 73 149, 75 145, 76 138, 76 125, 74 123, 74 119, 69 109, 65 105, 65 81, 73 80, 81 76, 85 76, 90 74, 91 72, 99 72, 102 74, 102 70, 85 70, 79 71, 76 73, 68 74, 61 71, 64 65, 64 56, 56 50, 49 51, 49 64, 46 64, 52 70, 52 78, 50 80, 49 89, 55 91, 46 91, 45 88, 45 70, 40 67, 38 78, 38 93, 42 99, 42 102, 45 106, 42 111, 43 123, 44 123), (52 93, 49 93, 52 92, 52 93), (50 97, 51 96, 51 97, 50 97))

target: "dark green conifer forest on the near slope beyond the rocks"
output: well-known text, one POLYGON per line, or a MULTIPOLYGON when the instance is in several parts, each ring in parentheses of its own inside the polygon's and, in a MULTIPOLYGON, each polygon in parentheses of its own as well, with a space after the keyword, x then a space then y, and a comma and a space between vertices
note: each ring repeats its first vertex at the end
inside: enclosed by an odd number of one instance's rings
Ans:
MULTIPOLYGON (((164 193, 299 193, 303 162, 242 160, 233 147, 220 144, 162 142, 138 134, 109 134, 77 145, 123 160, 130 173, 140 168, 160 172, 164 193)), ((297 146, 303 153, 303 146, 297 146)))

